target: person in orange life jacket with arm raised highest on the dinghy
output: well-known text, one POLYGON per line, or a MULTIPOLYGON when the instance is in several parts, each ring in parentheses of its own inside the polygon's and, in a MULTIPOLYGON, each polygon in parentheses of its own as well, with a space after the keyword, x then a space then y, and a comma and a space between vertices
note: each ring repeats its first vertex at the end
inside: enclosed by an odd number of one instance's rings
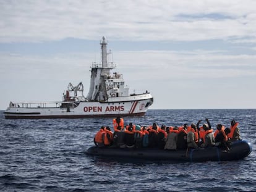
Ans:
POLYGON ((207 120, 207 123, 203 124, 203 143, 200 144, 200 148, 208 148, 215 146, 215 138, 213 135, 213 129, 210 128, 210 122, 207 120))

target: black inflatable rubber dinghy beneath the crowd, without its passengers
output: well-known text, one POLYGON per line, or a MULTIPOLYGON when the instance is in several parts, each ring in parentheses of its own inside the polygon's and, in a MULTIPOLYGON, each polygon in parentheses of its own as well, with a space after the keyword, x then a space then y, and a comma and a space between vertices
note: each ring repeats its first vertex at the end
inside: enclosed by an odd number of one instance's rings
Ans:
POLYGON ((169 151, 164 149, 150 148, 98 148, 92 146, 86 151, 86 154, 92 156, 114 157, 115 159, 148 159, 148 160, 168 160, 168 161, 234 161, 244 159, 252 152, 252 145, 245 140, 234 141, 229 152, 219 147, 189 149, 187 151, 177 150, 169 151))

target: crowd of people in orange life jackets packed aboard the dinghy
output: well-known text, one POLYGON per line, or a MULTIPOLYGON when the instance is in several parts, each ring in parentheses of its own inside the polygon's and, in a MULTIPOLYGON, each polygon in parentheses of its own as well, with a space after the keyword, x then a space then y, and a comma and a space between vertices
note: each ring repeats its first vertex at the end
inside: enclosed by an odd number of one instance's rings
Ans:
POLYGON ((197 124, 181 127, 166 125, 158 126, 153 123, 150 126, 124 125, 124 119, 113 119, 114 132, 111 128, 102 126, 96 133, 94 143, 99 148, 159 148, 167 150, 208 148, 219 146, 223 151, 229 151, 229 145, 236 140, 241 140, 239 123, 231 120, 229 127, 222 124, 216 125, 216 130, 211 128, 211 123, 205 119, 205 123, 198 120, 197 124))

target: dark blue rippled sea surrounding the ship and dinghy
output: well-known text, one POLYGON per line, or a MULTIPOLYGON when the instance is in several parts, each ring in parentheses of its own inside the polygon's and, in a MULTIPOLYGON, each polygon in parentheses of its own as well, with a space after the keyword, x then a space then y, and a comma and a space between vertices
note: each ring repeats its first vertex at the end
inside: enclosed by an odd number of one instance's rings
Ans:
POLYGON ((0 191, 256 191, 256 109, 149 110, 125 123, 179 126, 208 118, 212 127, 239 122, 252 144, 230 162, 168 162, 87 156, 111 118, 9 120, 0 112, 0 191))

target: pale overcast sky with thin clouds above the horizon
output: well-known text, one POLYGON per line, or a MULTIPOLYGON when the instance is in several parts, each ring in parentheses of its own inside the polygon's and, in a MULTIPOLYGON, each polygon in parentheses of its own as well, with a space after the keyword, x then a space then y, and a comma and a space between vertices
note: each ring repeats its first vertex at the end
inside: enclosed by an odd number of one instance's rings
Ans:
POLYGON ((0 0, 0 109, 90 83, 108 40, 150 109, 256 108, 256 1, 0 0))

